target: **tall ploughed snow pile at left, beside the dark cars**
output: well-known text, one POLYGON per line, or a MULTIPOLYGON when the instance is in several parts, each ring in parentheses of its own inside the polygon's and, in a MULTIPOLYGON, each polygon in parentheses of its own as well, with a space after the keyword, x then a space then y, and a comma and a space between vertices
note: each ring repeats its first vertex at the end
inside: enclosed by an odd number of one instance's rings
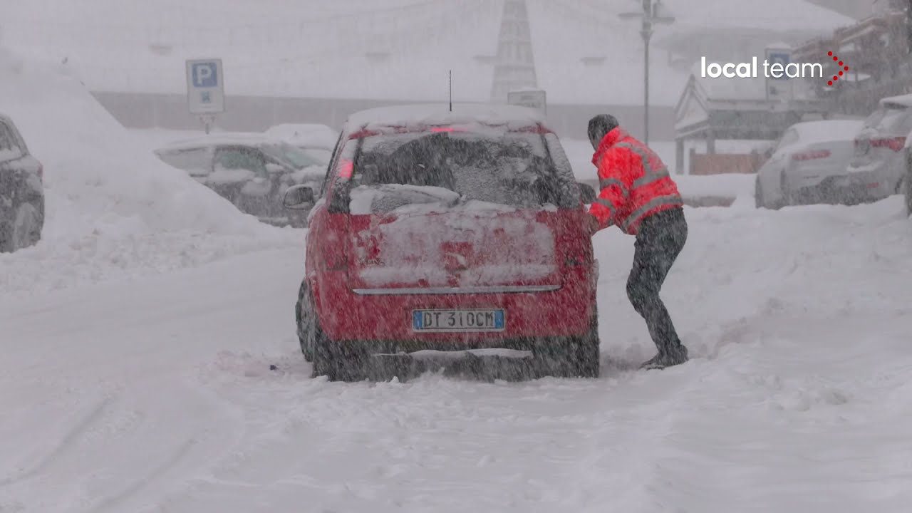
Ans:
POLYGON ((0 291, 64 287, 285 244, 282 231, 242 215, 137 144, 78 79, 2 49, 0 76, 0 111, 44 164, 47 212, 37 246, 0 256, 0 291))

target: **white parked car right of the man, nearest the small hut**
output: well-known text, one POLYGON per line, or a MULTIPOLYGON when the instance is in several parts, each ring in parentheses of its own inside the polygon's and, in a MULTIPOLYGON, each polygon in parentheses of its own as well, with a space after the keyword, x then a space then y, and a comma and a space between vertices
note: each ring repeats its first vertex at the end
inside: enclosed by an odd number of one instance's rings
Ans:
POLYGON ((757 208, 846 203, 846 175, 862 120, 796 123, 782 132, 772 156, 757 171, 757 208))

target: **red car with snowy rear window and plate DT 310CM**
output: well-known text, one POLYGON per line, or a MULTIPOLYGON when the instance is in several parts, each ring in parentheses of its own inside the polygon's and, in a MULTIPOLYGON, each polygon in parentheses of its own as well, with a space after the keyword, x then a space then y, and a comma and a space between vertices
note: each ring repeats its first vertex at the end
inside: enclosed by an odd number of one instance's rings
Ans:
POLYGON ((314 376, 357 381, 372 356, 496 348, 597 377, 592 188, 534 110, 451 109, 351 116, 324 190, 285 193, 286 208, 313 207, 295 315, 314 376))

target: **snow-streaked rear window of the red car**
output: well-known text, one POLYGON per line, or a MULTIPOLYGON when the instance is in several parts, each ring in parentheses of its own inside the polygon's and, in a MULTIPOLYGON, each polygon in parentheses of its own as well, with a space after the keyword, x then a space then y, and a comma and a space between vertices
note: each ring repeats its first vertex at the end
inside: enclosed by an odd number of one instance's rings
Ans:
POLYGON ((440 131, 365 138, 347 191, 353 203, 365 192, 374 199, 378 192, 399 195, 392 203, 374 201, 368 212, 453 198, 516 208, 573 208, 579 205, 575 185, 572 170, 554 163, 540 133, 440 131))

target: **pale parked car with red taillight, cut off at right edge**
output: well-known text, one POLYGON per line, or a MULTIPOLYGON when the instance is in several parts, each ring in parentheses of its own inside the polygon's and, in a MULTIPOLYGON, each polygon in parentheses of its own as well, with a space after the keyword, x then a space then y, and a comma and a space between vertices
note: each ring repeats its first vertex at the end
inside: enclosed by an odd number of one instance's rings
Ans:
POLYGON ((912 94, 881 99, 878 109, 865 120, 847 171, 854 183, 866 185, 871 199, 902 192, 906 174, 903 147, 910 131, 912 94))

